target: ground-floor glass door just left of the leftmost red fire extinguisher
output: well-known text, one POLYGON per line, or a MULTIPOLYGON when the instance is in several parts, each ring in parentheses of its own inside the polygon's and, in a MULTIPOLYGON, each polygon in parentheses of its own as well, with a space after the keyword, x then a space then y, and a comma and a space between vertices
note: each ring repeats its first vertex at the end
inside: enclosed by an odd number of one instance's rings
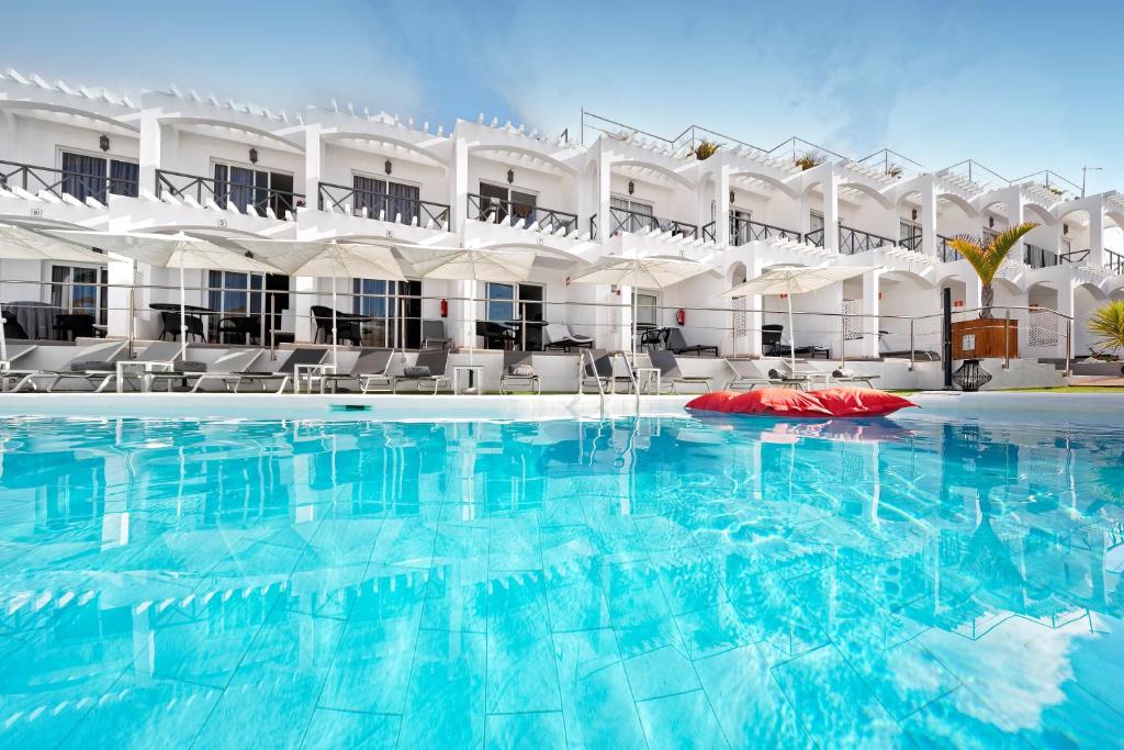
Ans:
POLYGON ((364 342, 374 346, 422 346, 422 282, 417 280, 352 280, 352 313, 372 318, 363 323, 364 342))

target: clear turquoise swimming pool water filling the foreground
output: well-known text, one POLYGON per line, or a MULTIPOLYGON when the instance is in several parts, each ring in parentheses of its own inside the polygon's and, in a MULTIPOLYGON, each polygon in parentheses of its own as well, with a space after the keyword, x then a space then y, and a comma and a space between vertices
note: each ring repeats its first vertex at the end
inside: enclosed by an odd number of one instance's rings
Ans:
POLYGON ((0 421, 2 747, 1109 747, 1124 431, 0 421))

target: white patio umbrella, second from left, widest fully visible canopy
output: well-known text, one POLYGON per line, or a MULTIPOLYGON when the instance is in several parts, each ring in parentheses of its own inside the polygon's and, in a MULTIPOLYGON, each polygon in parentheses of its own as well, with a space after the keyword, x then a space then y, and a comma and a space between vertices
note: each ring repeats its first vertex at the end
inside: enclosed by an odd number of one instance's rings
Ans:
MULTIPOLYGON (((140 232, 72 232, 56 231, 51 234, 63 240, 90 247, 100 247, 142 263, 157 268, 180 269, 180 356, 188 355, 187 290, 183 272, 187 269, 235 271, 243 273, 280 273, 266 263, 220 247, 206 240, 185 234, 145 234, 140 232)), ((129 338, 133 338, 133 320, 129 319, 129 338)))

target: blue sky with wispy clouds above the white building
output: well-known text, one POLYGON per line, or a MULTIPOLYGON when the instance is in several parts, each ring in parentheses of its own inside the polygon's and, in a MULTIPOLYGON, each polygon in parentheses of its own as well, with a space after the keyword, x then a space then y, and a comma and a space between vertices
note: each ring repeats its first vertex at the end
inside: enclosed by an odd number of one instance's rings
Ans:
POLYGON ((51 80, 550 133, 575 134, 586 107, 669 136, 798 135, 1008 178, 1103 166, 1090 190, 1124 188, 1118 0, 0 6, 0 65, 51 80))

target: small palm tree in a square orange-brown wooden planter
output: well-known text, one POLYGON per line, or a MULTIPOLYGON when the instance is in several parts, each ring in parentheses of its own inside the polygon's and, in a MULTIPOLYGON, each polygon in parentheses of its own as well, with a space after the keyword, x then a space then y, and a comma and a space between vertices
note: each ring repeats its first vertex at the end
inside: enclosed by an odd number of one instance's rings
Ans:
POLYGON ((980 311, 976 320, 959 320, 952 324, 952 358, 978 359, 985 356, 1018 356, 1018 324, 995 325, 991 323, 995 306, 995 278, 1018 241, 1036 224, 1025 223, 1000 232, 986 242, 968 236, 954 237, 949 244, 971 264, 979 277, 980 311))

